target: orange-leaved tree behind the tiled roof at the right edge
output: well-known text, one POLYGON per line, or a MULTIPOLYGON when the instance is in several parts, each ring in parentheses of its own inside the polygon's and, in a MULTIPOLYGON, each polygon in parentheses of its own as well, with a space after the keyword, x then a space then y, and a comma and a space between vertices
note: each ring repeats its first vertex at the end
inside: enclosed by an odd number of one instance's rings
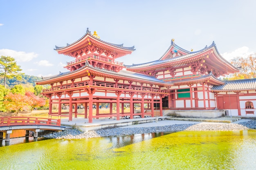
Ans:
POLYGON ((247 79, 256 78, 256 53, 249 55, 246 58, 235 57, 231 59, 231 64, 236 67, 241 67, 240 72, 233 74, 229 79, 247 79))

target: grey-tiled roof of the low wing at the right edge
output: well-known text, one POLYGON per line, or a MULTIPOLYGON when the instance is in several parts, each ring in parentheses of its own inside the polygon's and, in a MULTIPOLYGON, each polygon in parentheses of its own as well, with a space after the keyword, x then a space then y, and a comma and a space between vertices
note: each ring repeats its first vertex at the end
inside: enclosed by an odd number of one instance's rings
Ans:
POLYGON ((213 91, 256 90, 256 78, 224 81, 224 85, 213 86, 213 91))

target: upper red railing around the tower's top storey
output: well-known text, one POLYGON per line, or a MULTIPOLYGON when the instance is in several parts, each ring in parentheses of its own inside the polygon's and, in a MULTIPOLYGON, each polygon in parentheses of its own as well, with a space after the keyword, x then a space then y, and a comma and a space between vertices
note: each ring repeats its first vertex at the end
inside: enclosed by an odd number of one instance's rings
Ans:
POLYGON ((118 61, 115 61, 113 59, 106 59, 105 57, 100 57, 100 56, 96 56, 96 55, 93 55, 93 54, 89 54, 89 55, 87 55, 87 56, 85 56, 81 59, 76 59, 74 61, 67 62, 67 65, 72 65, 74 63, 79 63, 81 61, 85 61, 85 60, 88 60, 88 59, 95 59, 95 60, 98 60, 98 61, 103 61, 103 62, 115 64, 115 65, 124 66, 123 62, 118 62, 118 61))

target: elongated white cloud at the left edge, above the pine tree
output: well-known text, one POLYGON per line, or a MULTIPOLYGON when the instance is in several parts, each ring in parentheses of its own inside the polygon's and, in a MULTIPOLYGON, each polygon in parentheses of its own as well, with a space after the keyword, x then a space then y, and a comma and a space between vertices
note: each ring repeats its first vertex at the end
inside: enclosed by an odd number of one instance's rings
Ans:
POLYGON ((13 57, 16 61, 30 61, 36 58, 38 54, 34 52, 14 51, 9 49, 1 49, 0 55, 13 57))

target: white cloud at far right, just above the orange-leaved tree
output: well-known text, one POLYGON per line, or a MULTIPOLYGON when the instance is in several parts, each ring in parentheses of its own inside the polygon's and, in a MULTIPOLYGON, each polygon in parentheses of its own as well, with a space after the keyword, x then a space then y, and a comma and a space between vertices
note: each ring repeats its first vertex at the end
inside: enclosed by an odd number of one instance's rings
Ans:
POLYGON ((226 60, 230 61, 231 59, 234 59, 235 57, 247 57, 253 52, 248 52, 249 48, 246 46, 243 46, 241 48, 238 48, 232 52, 224 52, 222 57, 224 57, 226 60))

